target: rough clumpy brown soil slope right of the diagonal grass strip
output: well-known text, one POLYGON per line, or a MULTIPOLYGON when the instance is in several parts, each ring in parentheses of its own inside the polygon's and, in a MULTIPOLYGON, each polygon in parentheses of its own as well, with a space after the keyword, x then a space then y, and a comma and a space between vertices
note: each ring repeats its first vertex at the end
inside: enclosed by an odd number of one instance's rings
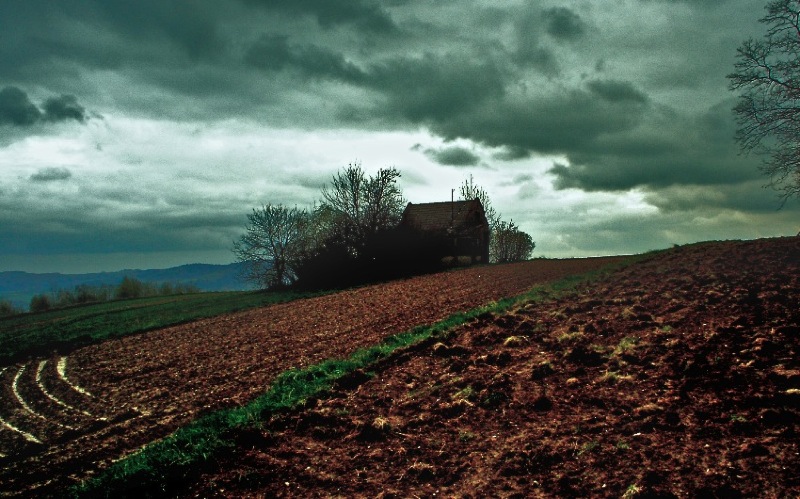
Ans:
POLYGON ((670 250, 376 371, 185 494, 798 497, 800 238, 670 250))

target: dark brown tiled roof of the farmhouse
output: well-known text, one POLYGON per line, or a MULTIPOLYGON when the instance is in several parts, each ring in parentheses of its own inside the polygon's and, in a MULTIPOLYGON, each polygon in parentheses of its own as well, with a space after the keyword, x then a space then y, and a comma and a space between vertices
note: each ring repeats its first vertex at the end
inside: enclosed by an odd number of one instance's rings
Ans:
POLYGON ((403 224, 426 231, 460 230, 484 224, 488 226, 483 205, 477 199, 408 203, 403 212, 403 224))

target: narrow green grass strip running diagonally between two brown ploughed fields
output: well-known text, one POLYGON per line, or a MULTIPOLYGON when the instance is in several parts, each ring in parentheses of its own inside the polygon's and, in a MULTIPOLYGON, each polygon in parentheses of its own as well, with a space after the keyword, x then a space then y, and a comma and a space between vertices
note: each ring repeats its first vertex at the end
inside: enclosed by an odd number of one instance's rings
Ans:
POLYGON ((307 400, 323 396, 344 376, 368 368, 400 349, 446 337, 458 326, 483 314, 503 314, 523 303, 537 303, 577 293, 581 285, 596 281, 624 265, 567 277, 513 298, 451 315, 433 325, 418 326, 390 336, 378 345, 360 349, 347 359, 326 360, 304 369, 285 371, 275 379, 269 391, 248 405, 201 417, 115 463, 98 477, 73 488, 70 494, 73 497, 174 494, 183 490, 185 484, 202 471, 213 469, 214 457, 235 448, 237 436, 257 430, 261 422, 272 414, 302 407, 307 400))

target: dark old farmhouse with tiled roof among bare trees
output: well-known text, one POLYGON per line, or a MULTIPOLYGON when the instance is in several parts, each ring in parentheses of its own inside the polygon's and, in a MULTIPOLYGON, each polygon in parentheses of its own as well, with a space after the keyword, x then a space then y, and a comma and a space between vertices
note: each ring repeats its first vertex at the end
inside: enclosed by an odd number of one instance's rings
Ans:
POLYGON ((400 225, 437 241, 427 248, 440 254, 430 256, 464 263, 489 262, 489 222, 478 199, 408 203, 400 225))

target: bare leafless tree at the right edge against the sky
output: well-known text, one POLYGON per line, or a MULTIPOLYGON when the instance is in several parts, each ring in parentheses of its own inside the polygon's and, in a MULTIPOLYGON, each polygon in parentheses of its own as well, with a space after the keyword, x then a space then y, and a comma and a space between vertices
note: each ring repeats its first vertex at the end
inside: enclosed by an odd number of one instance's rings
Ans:
POLYGON ((728 78, 740 93, 736 139, 764 156, 762 171, 785 203, 800 196, 800 1, 774 0, 766 11, 764 38, 742 43, 728 78))

